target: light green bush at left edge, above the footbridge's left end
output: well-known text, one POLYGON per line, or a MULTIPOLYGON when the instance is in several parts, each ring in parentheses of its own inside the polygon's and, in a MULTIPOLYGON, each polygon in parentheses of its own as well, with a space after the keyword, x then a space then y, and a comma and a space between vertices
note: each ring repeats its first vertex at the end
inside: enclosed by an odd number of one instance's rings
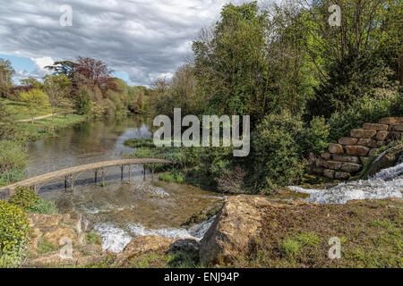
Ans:
POLYGON ((22 169, 26 164, 27 154, 21 144, 8 140, 0 141, 0 172, 22 169))

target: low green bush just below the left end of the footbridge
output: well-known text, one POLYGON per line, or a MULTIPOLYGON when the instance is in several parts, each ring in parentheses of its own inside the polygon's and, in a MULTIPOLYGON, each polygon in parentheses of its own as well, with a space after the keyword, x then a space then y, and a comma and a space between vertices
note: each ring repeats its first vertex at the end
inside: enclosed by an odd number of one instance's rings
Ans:
POLYGON ((20 207, 30 214, 56 214, 57 208, 54 202, 48 202, 39 197, 32 189, 19 187, 16 194, 10 198, 10 204, 20 207))

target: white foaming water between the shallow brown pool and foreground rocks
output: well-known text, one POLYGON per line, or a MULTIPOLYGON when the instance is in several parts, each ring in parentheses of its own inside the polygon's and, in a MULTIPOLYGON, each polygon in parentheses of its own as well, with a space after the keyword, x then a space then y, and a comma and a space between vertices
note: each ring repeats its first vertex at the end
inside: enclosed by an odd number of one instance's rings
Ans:
POLYGON ((113 223, 99 223, 94 229, 99 233, 102 239, 102 250, 110 250, 112 252, 122 251, 130 241, 136 237, 145 235, 157 235, 168 237, 171 239, 193 239, 201 240, 204 234, 209 230, 216 216, 212 216, 209 220, 195 224, 193 227, 186 229, 164 228, 164 229, 147 229, 141 224, 128 223, 128 231, 115 226, 113 223))

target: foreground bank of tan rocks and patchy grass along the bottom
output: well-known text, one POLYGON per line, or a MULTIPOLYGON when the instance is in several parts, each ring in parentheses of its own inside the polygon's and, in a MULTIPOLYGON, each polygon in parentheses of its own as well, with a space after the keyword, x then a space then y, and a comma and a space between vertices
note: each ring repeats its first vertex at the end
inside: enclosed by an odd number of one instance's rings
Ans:
MULTIPOLYGON (((241 195, 227 198, 201 242, 142 236, 119 253, 97 250, 85 256, 78 250, 74 259, 63 261, 56 247, 42 250, 42 257, 31 262, 37 267, 82 268, 400 268, 402 216, 401 199, 319 205, 241 195), (339 258, 329 256, 330 239, 340 242, 339 258)), ((39 249, 43 249, 40 244, 39 249)))

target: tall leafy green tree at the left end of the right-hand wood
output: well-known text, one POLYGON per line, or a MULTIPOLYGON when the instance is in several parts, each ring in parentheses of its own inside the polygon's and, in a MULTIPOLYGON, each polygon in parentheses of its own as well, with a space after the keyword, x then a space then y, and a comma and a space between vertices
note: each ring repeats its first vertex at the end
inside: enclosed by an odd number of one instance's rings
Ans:
POLYGON ((193 43, 195 75, 211 114, 262 117, 265 106, 266 13, 256 2, 222 8, 214 29, 193 43))

